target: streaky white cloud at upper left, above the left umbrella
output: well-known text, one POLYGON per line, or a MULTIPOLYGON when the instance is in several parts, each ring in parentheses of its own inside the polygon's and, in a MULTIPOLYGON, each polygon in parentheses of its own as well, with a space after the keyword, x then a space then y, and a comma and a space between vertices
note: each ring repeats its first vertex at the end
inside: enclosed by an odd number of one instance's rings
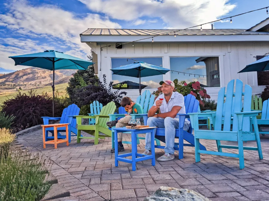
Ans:
MULTIPOLYGON (((5 69, 11 69, 11 64, 12 69, 15 67, 14 62, 7 56, 33 53, 38 49, 40 51, 53 50, 60 46, 71 48, 65 53, 85 59, 90 48, 80 42, 80 33, 88 27, 121 28, 119 24, 110 21, 107 17, 88 13, 84 18, 78 18, 74 13, 54 5, 33 6, 25 0, 13 0, 5 5, 9 11, 6 14, 0 14, 0 26, 6 27, 17 36, 37 38, 36 41, 25 38, 19 40, 3 38, 0 43, 2 44, 0 67, 5 69), (42 38, 46 39, 49 45, 43 46, 39 42, 42 38), (3 44, 7 45, 3 46, 3 44), (34 48, 31 50, 28 47, 34 48), (21 51, 21 49, 27 49, 27 51, 21 51)), ((22 68, 23 66, 16 67, 16 69, 22 68)))

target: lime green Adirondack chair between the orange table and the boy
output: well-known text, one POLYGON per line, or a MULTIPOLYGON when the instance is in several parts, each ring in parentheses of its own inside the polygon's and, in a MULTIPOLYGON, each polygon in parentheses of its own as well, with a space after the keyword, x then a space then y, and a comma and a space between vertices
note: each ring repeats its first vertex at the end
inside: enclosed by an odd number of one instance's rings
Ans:
POLYGON ((98 138, 104 139, 105 137, 111 137, 111 130, 107 127, 107 121, 109 121, 109 115, 114 114, 116 110, 116 105, 113 101, 108 103, 102 108, 99 115, 95 116, 76 116, 78 133, 77 133, 77 142, 80 143, 80 139, 94 139, 94 144, 98 144, 98 138), (81 125, 81 119, 95 119, 95 125, 81 125), (85 137, 81 136, 81 131, 89 133, 94 137, 85 137), (102 135, 99 132, 103 133, 102 135))

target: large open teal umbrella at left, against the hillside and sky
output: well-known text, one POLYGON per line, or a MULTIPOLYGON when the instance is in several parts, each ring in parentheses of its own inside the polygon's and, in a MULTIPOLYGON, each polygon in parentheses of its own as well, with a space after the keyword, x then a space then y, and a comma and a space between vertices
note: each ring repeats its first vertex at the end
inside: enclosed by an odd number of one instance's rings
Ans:
POLYGON ((38 68, 44 68, 53 71, 53 82, 52 82, 52 94, 53 94, 53 103, 52 103, 52 116, 54 117, 54 70, 61 69, 78 69, 86 70, 89 65, 93 62, 66 55, 62 52, 56 50, 45 50, 44 52, 27 54, 27 55, 18 55, 10 56, 9 58, 15 61, 16 65, 23 66, 32 66, 38 68))

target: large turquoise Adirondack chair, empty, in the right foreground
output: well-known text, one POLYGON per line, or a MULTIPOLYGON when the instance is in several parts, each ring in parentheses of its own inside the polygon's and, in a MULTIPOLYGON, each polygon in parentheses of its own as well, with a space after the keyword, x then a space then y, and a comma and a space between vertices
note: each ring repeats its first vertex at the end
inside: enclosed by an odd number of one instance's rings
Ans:
POLYGON ((257 115, 261 111, 251 111, 251 96, 252 88, 249 85, 245 85, 245 91, 243 92, 243 82, 236 80, 236 88, 234 92, 235 80, 231 80, 227 87, 221 88, 218 93, 218 104, 216 112, 208 113, 190 113, 191 124, 194 128, 195 137, 195 160, 200 161, 200 154, 211 154, 220 156, 230 156, 239 158, 239 168, 244 168, 244 150, 258 151, 259 159, 262 159, 262 147, 260 142, 260 136, 257 124, 257 115), (225 93, 225 88, 227 88, 225 93), (242 96, 244 96, 244 109, 241 111, 242 96), (225 100, 226 97, 226 100, 225 100), (234 99, 234 111, 232 109, 234 99), (224 100, 226 103, 225 113, 224 100), (212 117, 214 130, 199 130, 198 118, 199 117, 212 117), (222 120, 224 117, 224 124, 222 129, 222 120), (231 122, 231 118, 233 121, 231 122), (233 126, 232 131, 230 130, 233 126), (254 127, 254 132, 252 129, 254 127), (200 139, 216 140, 218 151, 205 151, 201 150, 198 146, 200 139), (237 142, 238 146, 222 145, 223 141, 237 142), (257 147, 243 146, 243 141, 255 140, 257 147), (222 148, 238 149, 239 154, 224 153, 222 148))

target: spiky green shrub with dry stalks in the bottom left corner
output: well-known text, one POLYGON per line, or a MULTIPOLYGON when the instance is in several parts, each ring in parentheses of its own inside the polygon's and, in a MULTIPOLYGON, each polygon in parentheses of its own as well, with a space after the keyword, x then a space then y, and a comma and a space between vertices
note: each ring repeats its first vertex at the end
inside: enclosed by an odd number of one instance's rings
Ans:
MULTIPOLYGON (((0 163, 0 201, 37 201, 48 193, 51 184, 44 182, 46 161, 40 155, 13 149, 0 163)), ((48 165, 48 164, 47 164, 48 165)))

